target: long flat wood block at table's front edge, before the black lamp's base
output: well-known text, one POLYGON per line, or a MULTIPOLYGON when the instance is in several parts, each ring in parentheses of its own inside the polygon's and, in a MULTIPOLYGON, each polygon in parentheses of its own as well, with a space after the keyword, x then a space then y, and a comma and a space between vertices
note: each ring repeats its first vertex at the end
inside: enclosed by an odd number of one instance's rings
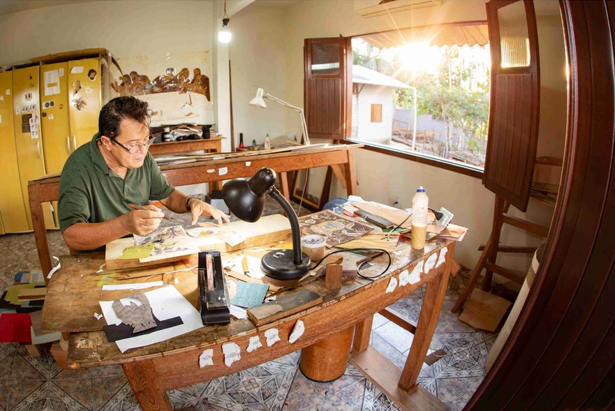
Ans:
POLYGON ((274 301, 250 308, 248 315, 256 325, 267 324, 267 322, 298 313, 321 302, 323 302, 323 297, 320 297, 316 292, 300 290, 274 301))

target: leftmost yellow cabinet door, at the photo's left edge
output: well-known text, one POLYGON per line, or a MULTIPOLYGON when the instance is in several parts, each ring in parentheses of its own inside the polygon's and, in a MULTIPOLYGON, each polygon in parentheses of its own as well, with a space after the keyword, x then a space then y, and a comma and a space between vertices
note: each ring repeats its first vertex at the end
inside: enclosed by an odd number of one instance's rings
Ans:
MULTIPOLYGON (((13 72, 0 73, 0 176, 2 195, 0 212, 6 232, 29 230, 20 174, 17 167, 15 133, 13 131, 13 72)), ((19 116, 17 116, 19 117, 19 116)))

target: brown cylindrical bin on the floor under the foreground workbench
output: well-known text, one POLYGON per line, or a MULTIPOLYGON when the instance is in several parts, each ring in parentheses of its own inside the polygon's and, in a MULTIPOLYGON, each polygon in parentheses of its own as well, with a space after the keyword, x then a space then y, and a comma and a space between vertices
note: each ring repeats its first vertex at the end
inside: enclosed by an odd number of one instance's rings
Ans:
POLYGON ((299 368, 303 375, 316 382, 340 378, 346 371, 355 327, 348 327, 301 350, 299 368))

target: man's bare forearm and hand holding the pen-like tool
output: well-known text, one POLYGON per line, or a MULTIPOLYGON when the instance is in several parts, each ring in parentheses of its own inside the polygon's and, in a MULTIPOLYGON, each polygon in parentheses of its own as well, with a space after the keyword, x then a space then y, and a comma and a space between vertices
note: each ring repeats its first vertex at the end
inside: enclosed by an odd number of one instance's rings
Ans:
POLYGON ((75 223, 62 233, 66 245, 75 250, 96 250, 128 234, 146 235, 156 230, 163 212, 153 205, 151 211, 133 210, 103 223, 75 223))

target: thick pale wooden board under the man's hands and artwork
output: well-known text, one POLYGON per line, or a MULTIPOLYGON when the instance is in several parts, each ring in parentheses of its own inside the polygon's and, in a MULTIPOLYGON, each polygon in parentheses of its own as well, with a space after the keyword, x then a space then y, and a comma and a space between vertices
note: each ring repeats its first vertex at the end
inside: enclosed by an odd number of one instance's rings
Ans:
MULTIPOLYGON (((263 244, 273 243, 275 241, 285 241, 290 237, 290 222, 288 218, 281 214, 273 214, 260 218, 256 223, 246 223, 245 221, 234 221, 219 226, 218 234, 224 232, 235 232, 245 237, 244 241, 234 246, 230 246, 216 236, 205 238, 187 237, 183 241, 190 241, 191 244, 197 246, 200 251, 218 250, 221 253, 229 251, 242 250, 244 248, 262 246, 263 244)), ((117 239, 107 244, 105 251, 105 260, 107 262, 105 270, 124 269, 132 267, 144 267, 149 265, 163 264, 173 261, 185 260, 188 257, 196 257, 196 255, 176 255, 170 258, 160 260, 144 261, 144 259, 135 258, 133 260, 119 260, 121 253, 127 247, 134 246, 135 240, 131 237, 117 239)))

